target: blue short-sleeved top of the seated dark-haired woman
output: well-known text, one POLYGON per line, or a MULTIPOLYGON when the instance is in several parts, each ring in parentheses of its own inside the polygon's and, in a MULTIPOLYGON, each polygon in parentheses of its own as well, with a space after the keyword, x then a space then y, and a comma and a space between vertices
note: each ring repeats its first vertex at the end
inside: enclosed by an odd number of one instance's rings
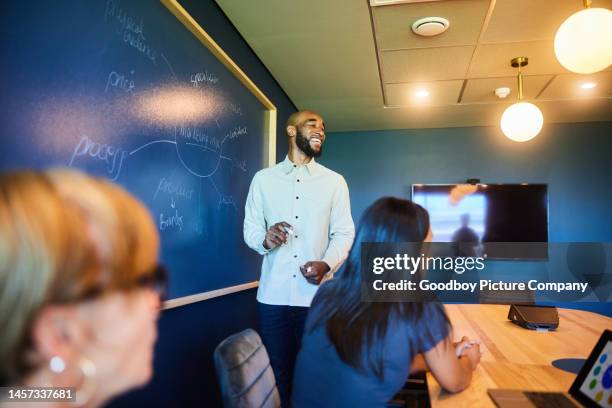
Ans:
POLYGON ((292 395, 295 408, 384 407, 404 386, 414 356, 448 336, 444 311, 437 303, 425 305, 423 317, 416 325, 391 318, 382 349, 384 377, 380 380, 370 368, 358 371, 340 359, 327 337, 325 324, 309 331, 319 313, 320 308, 313 304, 295 365, 292 395))

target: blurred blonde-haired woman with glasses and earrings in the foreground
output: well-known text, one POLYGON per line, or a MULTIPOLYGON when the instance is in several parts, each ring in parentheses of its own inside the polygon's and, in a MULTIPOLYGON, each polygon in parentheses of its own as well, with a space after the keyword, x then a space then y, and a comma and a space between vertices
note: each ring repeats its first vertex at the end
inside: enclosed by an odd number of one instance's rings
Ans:
POLYGON ((71 387, 72 401, 51 404, 95 407, 145 384, 158 248, 147 210, 115 185, 74 171, 0 175, 0 385, 71 387))

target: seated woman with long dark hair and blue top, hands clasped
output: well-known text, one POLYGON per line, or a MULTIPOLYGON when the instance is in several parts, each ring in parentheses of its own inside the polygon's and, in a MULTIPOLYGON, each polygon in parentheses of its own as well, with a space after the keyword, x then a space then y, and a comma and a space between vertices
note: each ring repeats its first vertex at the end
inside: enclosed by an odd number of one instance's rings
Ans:
POLYGON ((411 201, 386 197, 365 211, 348 259, 312 302, 296 362, 294 407, 385 406, 411 366, 429 368, 450 392, 468 386, 480 348, 466 337, 453 344, 441 304, 361 299, 362 243, 431 238, 427 211, 411 201))

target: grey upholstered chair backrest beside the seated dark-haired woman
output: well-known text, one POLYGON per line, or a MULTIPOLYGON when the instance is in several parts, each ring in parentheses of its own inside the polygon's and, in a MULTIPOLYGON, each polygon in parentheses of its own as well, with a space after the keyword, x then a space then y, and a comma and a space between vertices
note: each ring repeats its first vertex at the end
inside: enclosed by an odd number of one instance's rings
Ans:
POLYGON ((215 349, 215 368, 226 408, 278 408, 280 396, 259 334, 246 329, 215 349))

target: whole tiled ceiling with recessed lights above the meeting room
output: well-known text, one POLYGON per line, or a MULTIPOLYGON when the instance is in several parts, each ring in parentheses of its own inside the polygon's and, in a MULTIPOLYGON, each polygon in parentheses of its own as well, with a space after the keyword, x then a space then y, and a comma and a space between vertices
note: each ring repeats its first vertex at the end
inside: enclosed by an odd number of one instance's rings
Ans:
MULTIPOLYGON (((554 56, 555 31, 580 0, 217 3, 297 107, 320 112, 332 131, 497 125, 516 100, 517 56, 529 58, 524 95, 545 123, 612 120, 612 66, 575 75, 554 56), (426 16, 450 28, 431 38, 412 33, 426 16), (598 86, 582 90, 586 80, 598 86), (500 86, 512 90, 506 100, 493 94, 500 86), (421 89, 429 97, 415 98, 421 89)), ((593 7, 609 9, 612 0, 593 7)))

